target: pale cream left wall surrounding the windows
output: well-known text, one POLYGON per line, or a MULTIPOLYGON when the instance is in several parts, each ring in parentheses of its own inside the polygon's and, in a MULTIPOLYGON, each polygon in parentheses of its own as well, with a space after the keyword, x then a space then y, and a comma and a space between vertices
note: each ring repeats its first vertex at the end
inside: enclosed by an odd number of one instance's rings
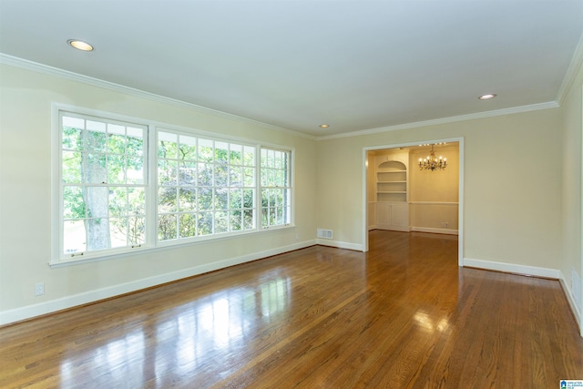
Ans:
POLYGON ((0 71, 0 324, 314 243, 312 138, 20 67, 0 71), (53 103, 294 148, 295 227, 51 269, 53 103), (34 295, 36 282, 44 295, 34 295))

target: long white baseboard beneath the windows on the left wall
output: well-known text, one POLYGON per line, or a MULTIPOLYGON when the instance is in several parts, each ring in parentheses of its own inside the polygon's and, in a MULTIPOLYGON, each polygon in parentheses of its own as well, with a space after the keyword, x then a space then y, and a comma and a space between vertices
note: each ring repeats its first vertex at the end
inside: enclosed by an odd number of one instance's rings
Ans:
POLYGON ((90 302, 98 302, 100 300, 108 299, 129 292, 137 292, 139 290, 157 286, 166 282, 178 281, 205 272, 217 271, 230 266, 238 265, 240 263, 256 261, 260 260, 261 258, 271 257, 272 255, 303 249, 315 244, 316 241, 303 241, 289 246, 279 247, 267 251, 253 252, 241 257, 230 258, 212 263, 205 263, 203 265, 193 266, 191 268, 182 269, 180 271, 172 271, 133 282, 108 286, 107 288, 77 293, 48 302, 40 302, 32 305, 26 305, 21 308, 15 308, 13 310, 6 310, 0 312, 0 325, 9 324, 12 322, 21 322, 23 320, 32 319, 36 316, 44 315, 46 313, 62 311, 90 302))

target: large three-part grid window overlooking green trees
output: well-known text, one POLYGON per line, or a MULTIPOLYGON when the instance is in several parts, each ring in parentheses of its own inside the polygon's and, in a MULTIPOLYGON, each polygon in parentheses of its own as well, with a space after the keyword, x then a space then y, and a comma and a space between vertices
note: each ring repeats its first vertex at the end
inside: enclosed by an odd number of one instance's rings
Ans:
POLYGON ((76 112, 58 118, 53 262, 292 223, 289 150, 76 112))

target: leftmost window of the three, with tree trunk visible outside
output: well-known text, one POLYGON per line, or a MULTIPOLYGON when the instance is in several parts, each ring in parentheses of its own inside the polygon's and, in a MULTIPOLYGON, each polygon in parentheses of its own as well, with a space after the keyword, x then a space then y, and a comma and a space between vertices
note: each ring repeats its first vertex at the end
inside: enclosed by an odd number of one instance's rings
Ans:
POLYGON ((147 128, 61 113, 62 254, 145 241, 147 128))

